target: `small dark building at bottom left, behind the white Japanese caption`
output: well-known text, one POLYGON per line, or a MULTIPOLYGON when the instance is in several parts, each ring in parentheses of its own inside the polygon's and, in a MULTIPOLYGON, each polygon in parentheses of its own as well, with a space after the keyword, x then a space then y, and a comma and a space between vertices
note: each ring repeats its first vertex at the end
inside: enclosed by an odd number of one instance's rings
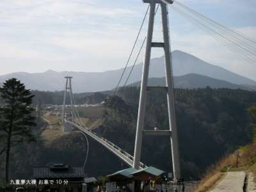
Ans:
POLYGON ((68 164, 48 164, 33 168, 37 191, 82 192, 84 184, 84 168, 72 167, 68 164))

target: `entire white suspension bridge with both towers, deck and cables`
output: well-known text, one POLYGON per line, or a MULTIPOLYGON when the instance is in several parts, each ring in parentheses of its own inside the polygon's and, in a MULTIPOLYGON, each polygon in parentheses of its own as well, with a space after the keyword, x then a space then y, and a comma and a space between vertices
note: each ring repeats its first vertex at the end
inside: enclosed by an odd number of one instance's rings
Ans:
MULTIPOLYGON (((114 90, 113 95, 115 95, 117 88, 120 86, 122 78, 124 77, 125 70, 129 61, 131 60, 132 53, 134 52, 134 47, 138 42, 138 37, 140 36, 142 26, 145 22, 145 19, 148 14, 148 28, 147 28, 147 36, 145 36, 143 43, 140 46, 140 51, 136 55, 136 59, 132 65, 131 71, 129 72, 129 76, 125 80, 124 86, 126 86, 129 77, 131 76, 132 69, 134 65, 136 65, 136 61, 138 60, 138 56, 141 53, 142 47, 145 44, 145 58, 143 62, 143 74, 141 79, 141 89, 140 89, 140 103, 138 109, 138 120, 136 126, 136 140, 135 140, 135 147, 134 147, 134 155, 132 156, 124 149, 116 146, 111 141, 99 136, 96 132, 93 132, 93 129, 89 129, 86 127, 83 122, 81 121, 81 117, 76 109, 76 102, 74 100, 74 95, 72 92, 72 77, 67 76, 66 84, 65 84, 65 93, 64 93, 64 101, 63 101, 63 110, 62 110, 62 122, 66 124, 70 124, 79 131, 84 132, 87 136, 93 138, 93 140, 100 143, 100 145, 106 147, 110 152, 115 154, 118 158, 122 159, 125 163, 129 166, 132 166, 136 169, 147 168, 146 164, 141 162, 141 147, 142 147, 142 140, 143 136, 150 134, 154 136, 168 136, 170 137, 170 142, 172 148, 170 151, 172 152, 172 168, 173 168, 173 179, 177 180, 180 179, 180 163, 179 163, 179 142, 178 142, 178 135, 177 135, 177 126, 176 126, 176 118, 175 118, 175 99, 173 93, 173 71, 172 71, 172 54, 170 54, 170 28, 169 28, 169 21, 168 21, 168 5, 175 12, 179 13, 183 17, 186 17, 189 21, 195 24, 198 28, 206 31, 212 38, 218 40, 221 44, 225 45, 230 51, 238 53, 241 58, 248 61, 250 64, 255 65, 255 49, 256 49, 256 41, 252 38, 241 35, 236 31, 228 29, 227 27, 218 24, 214 20, 208 19, 204 15, 192 10, 188 6, 185 6, 178 1, 171 1, 171 0, 143 0, 143 3, 148 4, 147 11, 145 13, 145 17, 143 18, 143 22, 141 23, 141 27, 139 30, 138 35, 136 36, 136 40, 132 47, 131 54, 129 54, 129 58, 125 65, 124 71, 120 76, 120 80, 118 81, 116 88, 114 90), (179 7, 173 6, 176 4, 179 7), (161 19, 162 19, 162 31, 163 31, 163 42, 152 42, 152 35, 154 31, 154 19, 157 10, 161 7, 161 19), (150 87, 147 86, 148 83, 148 72, 150 67, 150 56, 151 51, 153 48, 161 48, 164 51, 164 63, 165 63, 165 71, 166 71, 166 86, 155 86, 150 87), (169 130, 145 130, 143 129, 143 123, 145 119, 145 106, 146 106, 146 99, 147 99, 147 92, 148 90, 164 90, 166 92, 166 99, 168 102, 168 120, 169 120, 169 130), (66 96, 69 93, 70 97, 70 104, 71 104, 71 111, 72 111, 72 119, 68 120, 65 117, 66 112, 66 96)), ((117 102, 117 101, 116 101, 117 102)), ((114 106, 116 104, 114 103, 114 106)), ((107 117, 106 117, 107 118, 107 117)))

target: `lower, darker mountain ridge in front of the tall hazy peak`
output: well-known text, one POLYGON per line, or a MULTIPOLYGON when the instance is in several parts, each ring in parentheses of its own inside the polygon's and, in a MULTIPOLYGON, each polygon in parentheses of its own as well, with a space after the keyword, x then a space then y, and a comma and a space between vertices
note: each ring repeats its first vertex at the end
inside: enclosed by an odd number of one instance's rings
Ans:
MULTIPOLYGON (((165 77, 152 77, 148 79, 149 86, 164 86, 165 77)), ((131 86, 140 86, 141 81, 129 84, 131 86)), ((241 90, 256 90, 253 88, 248 88, 246 86, 241 86, 238 84, 229 83, 227 81, 214 79, 207 76, 202 76, 198 74, 187 74, 184 76, 174 77, 175 88, 205 88, 210 86, 211 88, 230 88, 230 89, 241 89, 241 90)))

